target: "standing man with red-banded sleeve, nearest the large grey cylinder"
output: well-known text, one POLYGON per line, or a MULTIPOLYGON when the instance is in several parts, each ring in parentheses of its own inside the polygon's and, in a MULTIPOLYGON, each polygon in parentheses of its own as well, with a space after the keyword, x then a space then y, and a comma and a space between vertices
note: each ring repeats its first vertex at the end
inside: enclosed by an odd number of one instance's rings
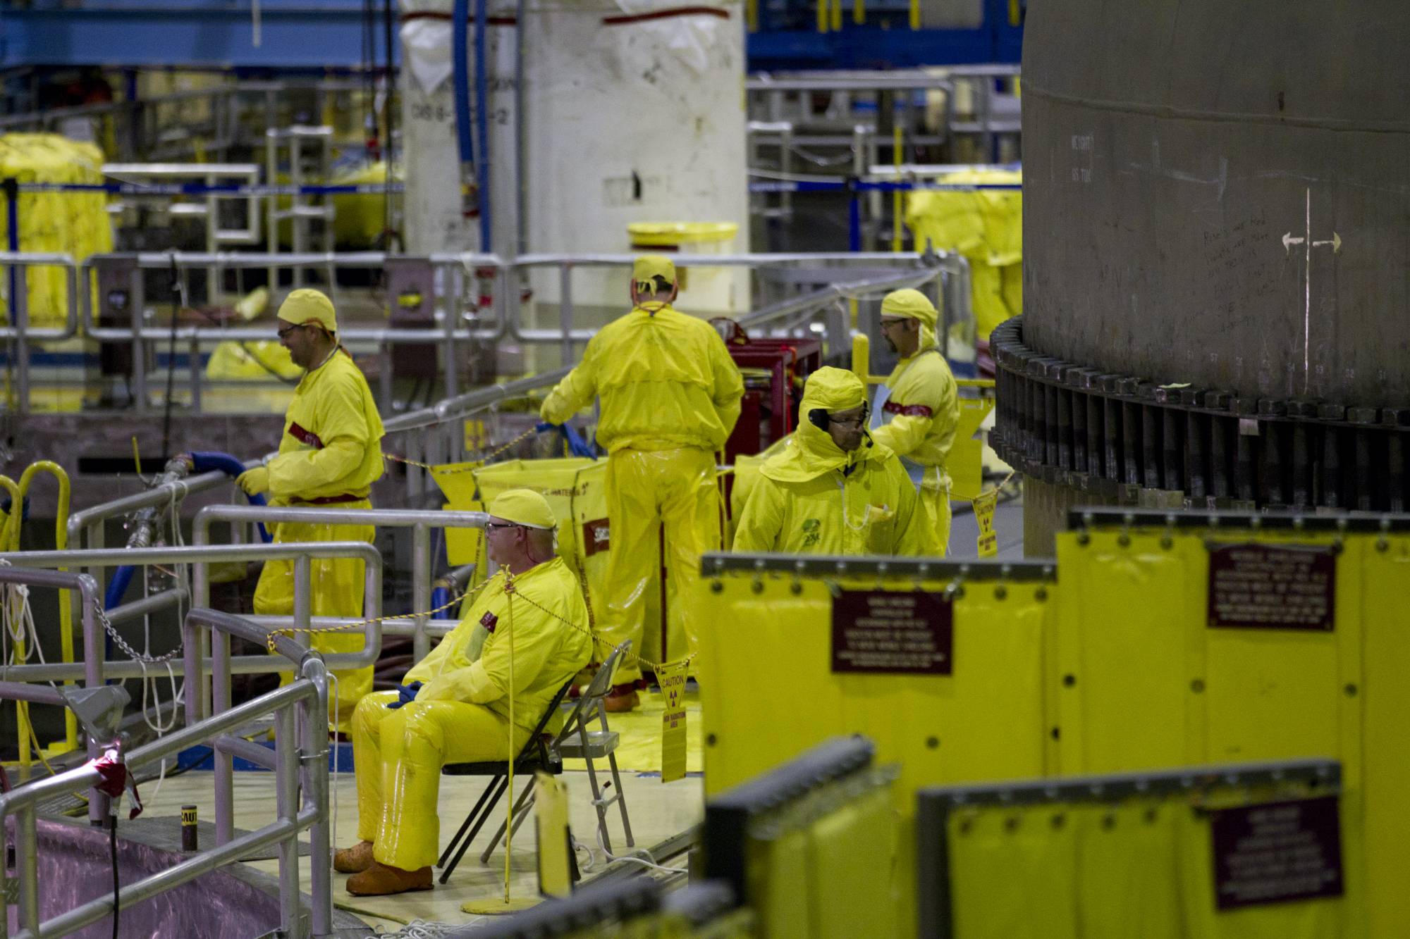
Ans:
POLYGON ((919 290, 881 300, 881 336, 901 361, 871 402, 871 437, 901 457, 943 556, 950 546, 950 474, 945 458, 960 420, 959 389, 935 344, 935 305, 919 290))

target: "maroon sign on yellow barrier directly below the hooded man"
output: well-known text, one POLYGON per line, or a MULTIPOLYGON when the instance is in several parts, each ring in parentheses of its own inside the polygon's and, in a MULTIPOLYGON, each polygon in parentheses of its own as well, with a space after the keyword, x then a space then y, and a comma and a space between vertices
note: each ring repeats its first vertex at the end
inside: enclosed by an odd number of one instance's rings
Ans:
POLYGON ((953 615, 940 594, 842 591, 832 601, 832 671, 948 675, 953 615))

